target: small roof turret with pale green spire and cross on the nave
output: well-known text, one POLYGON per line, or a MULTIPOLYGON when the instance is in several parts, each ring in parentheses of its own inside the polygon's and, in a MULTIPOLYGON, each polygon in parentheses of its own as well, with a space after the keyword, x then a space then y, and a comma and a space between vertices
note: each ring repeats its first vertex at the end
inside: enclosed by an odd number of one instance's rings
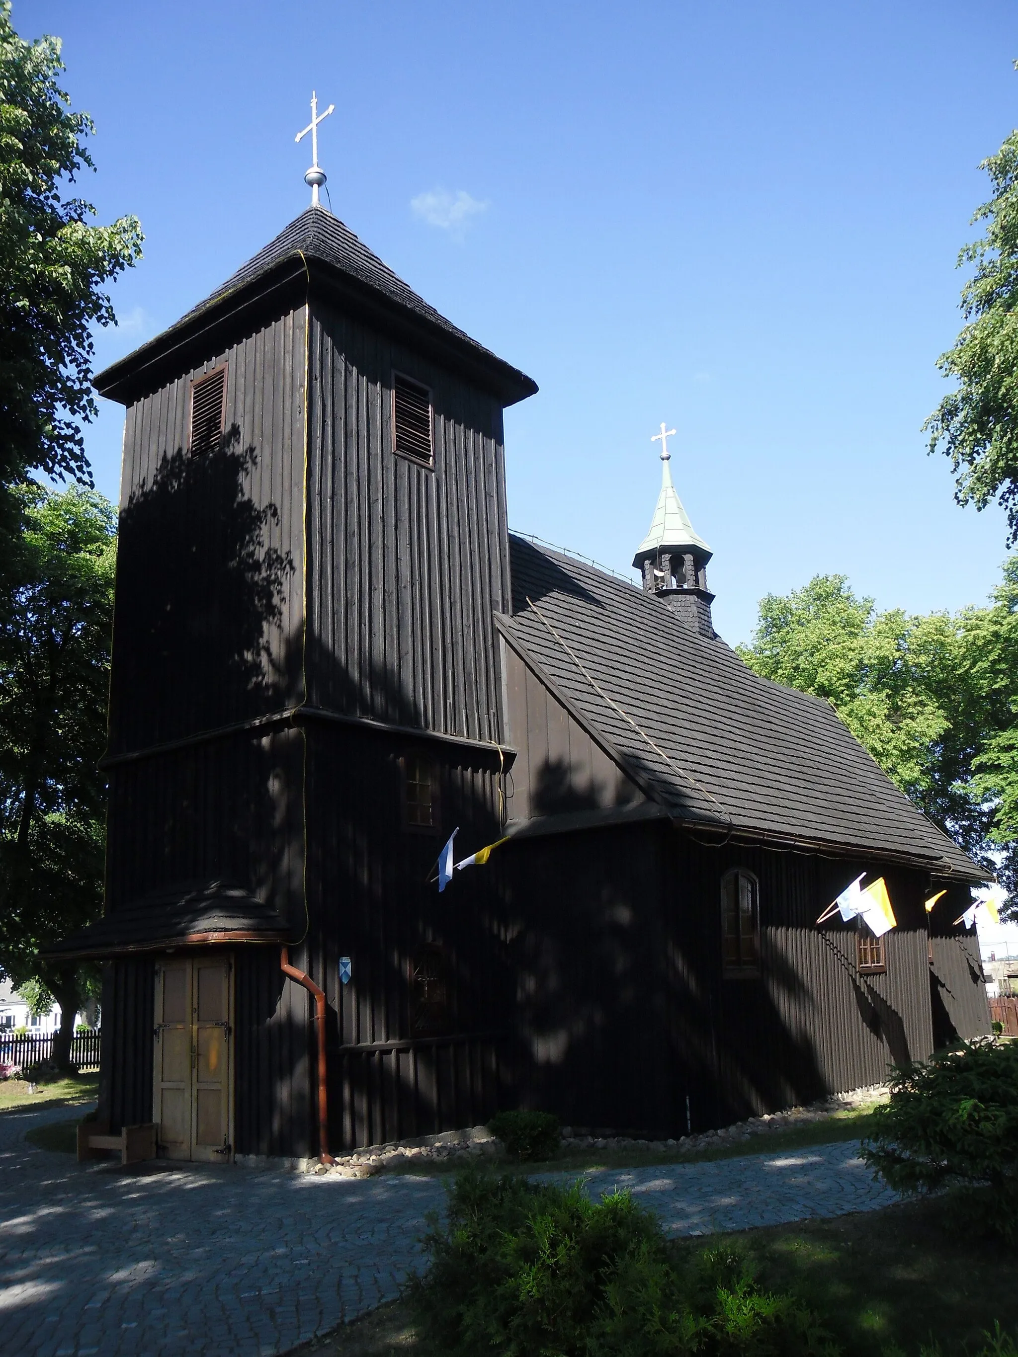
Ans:
POLYGON ((633 558, 634 569, 643 577, 643 589, 657 594, 665 607, 691 631, 714 641, 710 605, 714 594, 707 589, 707 562, 713 552, 694 532, 690 516, 672 484, 668 440, 675 429, 661 425, 652 442, 661 444, 661 494, 654 518, 633 558))

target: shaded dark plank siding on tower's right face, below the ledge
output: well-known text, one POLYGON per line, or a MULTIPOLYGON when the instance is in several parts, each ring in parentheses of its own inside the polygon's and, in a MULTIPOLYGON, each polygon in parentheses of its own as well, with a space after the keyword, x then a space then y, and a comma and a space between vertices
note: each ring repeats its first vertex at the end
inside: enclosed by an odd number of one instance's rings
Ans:
POLYGON ((499 833, 498 759, 432 741, 308 723, 309 932, 297 954, 330 1006, 330 1130, 337 1145, 379 1144, 474 1125, 499 1106, 509 1038, 505 939, 490 868, 440 894, 433 867, 459 826, 457 856, 499 833), (402 754, 432 760, 440 822, 400 822, 402 754), (410 963, 441 946, 448 1029, 417 1035, 410 963), (350 957, 353 978, 339 981, 350 957))

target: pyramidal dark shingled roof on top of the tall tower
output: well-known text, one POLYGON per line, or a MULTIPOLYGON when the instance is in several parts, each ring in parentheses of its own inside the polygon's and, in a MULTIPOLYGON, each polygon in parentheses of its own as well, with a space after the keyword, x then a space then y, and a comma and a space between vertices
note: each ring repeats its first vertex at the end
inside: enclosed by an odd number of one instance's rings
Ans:
POLYGON ((95 379, 96 388, 106 395, 107 388, 115 387, 125 372, 148 361, 149 354, 164 347, 178 331, 193 328, 194 323, 201 322, 206 313, 212 315, 221 309, 231 297, 251 284, 257 284, 261 278, 267 278, 273 270, 288 262, 303 266, 308 263, 326 265, 334 277, 338 275, 341 281, 346 281, 361 296, 373 297, 376 303, 381 301, 390 312, 402 312, 404 318, 423 323, 432 332, 447 337, 453 349, 472 357, 475 364, 480 364, 487 370, 497 369, 497 376, 512 392, 510 399, 521 400, 536 392, 538 384, 531 377, 447 320, 441 312, 429 305, 387 263, 379 259, 345 223, 322 206, 307 208, 274 240, 270 240, 263 250, 259 250, 220 288, 216 288, 210 296, 186 312, 162 335, 99 373, 95 379))

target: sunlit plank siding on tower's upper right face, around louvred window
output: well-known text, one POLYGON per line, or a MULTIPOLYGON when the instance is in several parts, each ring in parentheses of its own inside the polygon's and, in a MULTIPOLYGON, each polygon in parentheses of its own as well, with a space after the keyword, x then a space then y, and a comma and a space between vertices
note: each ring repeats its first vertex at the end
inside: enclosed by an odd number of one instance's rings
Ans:
POLYGON ((498 402, 312 305, 308 702, 498 740, 508 607, 498 402), (392 370, 432 391, 434 470, 392 451, 392 370))

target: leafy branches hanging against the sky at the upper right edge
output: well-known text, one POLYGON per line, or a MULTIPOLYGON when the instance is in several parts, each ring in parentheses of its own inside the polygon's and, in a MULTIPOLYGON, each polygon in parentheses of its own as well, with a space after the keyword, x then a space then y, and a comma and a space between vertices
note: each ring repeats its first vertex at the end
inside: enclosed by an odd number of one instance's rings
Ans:
MULTIPOLYGON (((1015 62, 1018 65, 1018 62, 1015 62)), ((992 194, 972 218, 985 232, 958 255, 976 269, 962 288, 968 322, 937 365, 957 388, 923 427, 930 451, 942 449, 957 480, 958 503, 1007 510, 1008 544, 1018 541, 1018 130, 980 166, 992 194)))

